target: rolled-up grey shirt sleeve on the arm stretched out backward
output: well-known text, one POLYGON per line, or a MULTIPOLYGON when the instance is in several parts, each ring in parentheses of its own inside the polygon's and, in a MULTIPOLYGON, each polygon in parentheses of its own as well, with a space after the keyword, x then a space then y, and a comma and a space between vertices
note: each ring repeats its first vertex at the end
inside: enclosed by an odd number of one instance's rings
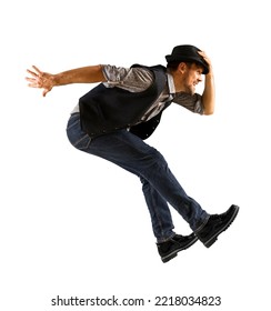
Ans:
POLYGON ((143 68, 123 68, 110 64, 102 66, 107 88, 121 88, 130 92, 142 92, 153 82, 153 73, 143 68))

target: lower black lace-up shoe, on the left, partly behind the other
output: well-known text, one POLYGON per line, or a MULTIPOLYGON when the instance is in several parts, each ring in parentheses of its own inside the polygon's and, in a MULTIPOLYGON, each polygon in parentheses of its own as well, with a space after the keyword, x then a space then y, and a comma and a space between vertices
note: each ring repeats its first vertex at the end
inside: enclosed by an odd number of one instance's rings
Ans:
POLYGON ((191 233, 188 237, 175 234, 165 242, 157 243, 158 252, 162 262, 168 262, 172 258, 177 257, 179 251, 188 249, 197 241, 198 237, 194 233, 191 233))

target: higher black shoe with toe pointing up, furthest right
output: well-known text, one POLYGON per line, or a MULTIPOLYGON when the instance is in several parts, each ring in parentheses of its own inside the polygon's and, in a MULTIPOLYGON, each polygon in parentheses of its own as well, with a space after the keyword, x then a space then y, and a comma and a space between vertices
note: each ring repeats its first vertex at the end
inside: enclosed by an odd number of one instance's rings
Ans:
POLYGON ((235 219, 238 211, 238 205, 231 205, 229 210, 222 214, 210 215, 207 223, 200 230, 195 230, 199 240, 207 248, 210 248, 217 241, 218 235, 230 227, 235 219))

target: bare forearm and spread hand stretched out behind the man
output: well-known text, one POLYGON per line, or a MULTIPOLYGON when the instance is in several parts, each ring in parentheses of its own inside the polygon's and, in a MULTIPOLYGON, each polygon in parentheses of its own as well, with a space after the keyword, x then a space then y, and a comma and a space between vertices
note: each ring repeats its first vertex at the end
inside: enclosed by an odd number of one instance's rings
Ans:
POLYGON ((31 77, 27 77, 30 88, 43 89, 43 97, 51 91, 53 87, 66 86, 71 83, 96 83, 104 82, 106 78, 102 73, 102 67, 89 66, 68 70, 57 74, 43 72, 39 70, 36 66, 32 70, 27 70, 31 77))

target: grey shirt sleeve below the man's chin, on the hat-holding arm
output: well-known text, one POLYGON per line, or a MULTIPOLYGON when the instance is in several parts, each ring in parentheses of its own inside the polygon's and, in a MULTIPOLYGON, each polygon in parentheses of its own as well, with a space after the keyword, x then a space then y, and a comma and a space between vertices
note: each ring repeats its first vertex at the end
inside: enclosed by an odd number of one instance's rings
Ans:
POLYGON ((201 99, 202 97, 198 93, 190 96, 188 93, 180 92, 175 94, 173 102, 187 108, 192 112, 203 114, 204 108, 201 99))

